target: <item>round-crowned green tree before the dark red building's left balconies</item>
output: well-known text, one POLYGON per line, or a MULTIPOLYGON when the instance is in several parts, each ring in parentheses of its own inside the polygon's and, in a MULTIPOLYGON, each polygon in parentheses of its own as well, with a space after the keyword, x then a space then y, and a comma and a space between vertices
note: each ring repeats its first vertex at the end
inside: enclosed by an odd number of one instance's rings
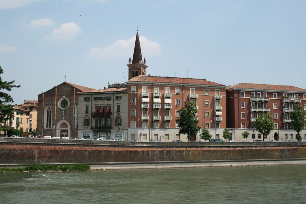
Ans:
POLYGON ((268 113, 267 116, 264 114, 259 114, 256 120, 253 122, 253 126, 255 126, 256 130, 263 135, 263 141, 265 141, 264 135, 269 135, 274 129, 271 113, 268 113))

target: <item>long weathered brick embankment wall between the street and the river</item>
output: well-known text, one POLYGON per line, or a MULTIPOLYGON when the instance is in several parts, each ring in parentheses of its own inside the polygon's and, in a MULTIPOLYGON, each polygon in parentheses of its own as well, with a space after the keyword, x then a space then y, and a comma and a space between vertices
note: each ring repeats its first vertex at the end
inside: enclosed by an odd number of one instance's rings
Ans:
POLYGON ((0 165, 306 159, 306 144, 122 143, 0 139, 0 165))

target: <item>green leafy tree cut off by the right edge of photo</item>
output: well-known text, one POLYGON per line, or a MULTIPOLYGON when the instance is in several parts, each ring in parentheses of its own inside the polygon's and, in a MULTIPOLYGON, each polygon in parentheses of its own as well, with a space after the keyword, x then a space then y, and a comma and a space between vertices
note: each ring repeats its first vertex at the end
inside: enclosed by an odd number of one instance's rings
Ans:
POLYGON ((306 112, 304 111, 303 106, 300 104, 295 105, 293 111, 290 113, 290 118, 293 129, 297 132, 297 141, 302 139, 300 132, 301 127, 306 126, 305 117, 306 112))

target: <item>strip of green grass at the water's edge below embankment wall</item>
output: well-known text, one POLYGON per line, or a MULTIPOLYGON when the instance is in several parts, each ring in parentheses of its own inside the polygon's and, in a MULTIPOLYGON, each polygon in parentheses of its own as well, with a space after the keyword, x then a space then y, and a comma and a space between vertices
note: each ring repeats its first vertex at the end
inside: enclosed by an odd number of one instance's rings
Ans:
POLYGON ((0 172, 36 172, 36 171, 86 171, 89 170, 88 164, 74 164, 74 165, 29 165, 26 167, 1 167, 0 172))

